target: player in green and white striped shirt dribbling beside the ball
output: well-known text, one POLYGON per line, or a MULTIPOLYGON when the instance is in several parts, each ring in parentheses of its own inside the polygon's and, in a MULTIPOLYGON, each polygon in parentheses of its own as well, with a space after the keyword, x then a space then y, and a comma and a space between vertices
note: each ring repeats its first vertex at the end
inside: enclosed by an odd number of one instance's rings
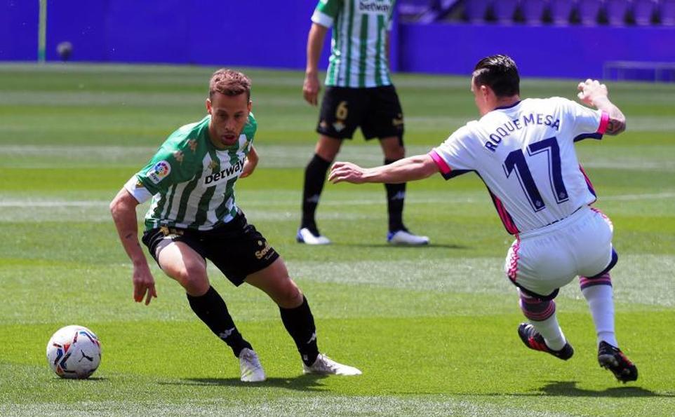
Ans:
POLYGON ((279 254, 236 206, 234 183, 258 163, 253 148, 257 124, 250 109, 250 80, 229 69, 215 71, 206 100, 208 115, 173 132, 110 204, 122 245, 133 261, 133 298, 145 298, 147 305, 157 296, 138 242, 136 218, 136 206, 152 198, 142 241, 164 273, 185 288, 194 313, 232 348, 239 358, 241 381, 265 381, 265 371, 236 329, 225 301, 210 286, 206 259, 234 285, 258 287, 279 305, 305 374, 361 374, 319 353, 307 299, 289 278, 279 254))

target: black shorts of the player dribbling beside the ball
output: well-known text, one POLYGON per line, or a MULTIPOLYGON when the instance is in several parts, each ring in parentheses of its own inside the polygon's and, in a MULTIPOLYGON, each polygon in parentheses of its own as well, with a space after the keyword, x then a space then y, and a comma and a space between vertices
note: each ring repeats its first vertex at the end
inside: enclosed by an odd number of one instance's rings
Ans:
POLYGON ((236 286, 241 285, 248 275, 267 268, 279 258, 255 226, 246 222, 242 212, 229 223, 210 231, 166 226, 146 231, 142 240, 155 261, 157 245, 165 239, 184 242, 201 257, 213 262, 236 286))

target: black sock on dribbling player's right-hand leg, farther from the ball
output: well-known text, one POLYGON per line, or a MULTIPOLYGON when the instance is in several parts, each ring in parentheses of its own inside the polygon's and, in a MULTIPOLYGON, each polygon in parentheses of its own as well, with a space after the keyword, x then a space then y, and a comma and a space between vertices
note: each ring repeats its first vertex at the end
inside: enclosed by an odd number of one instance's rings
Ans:
POLYGON ((311 367, 319 356, 319 346, 316 344, 316 327, 314 326, 314 317, 309 310, 309 304, 305 296, 302 296, 302 304, 295 308, 281 308, 281 321, 283 327, 295 341, 298 346, 298 352, 302 357, 302 362, 311 367))

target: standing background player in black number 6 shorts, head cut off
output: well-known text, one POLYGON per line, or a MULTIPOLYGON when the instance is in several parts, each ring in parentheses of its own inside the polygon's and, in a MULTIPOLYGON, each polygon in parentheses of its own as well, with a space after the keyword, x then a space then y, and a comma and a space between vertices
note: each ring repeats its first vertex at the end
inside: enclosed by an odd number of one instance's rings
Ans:
MULTIPOLYGON (((366 139, 380 139, 385 164, 405 156, 403 111, 389 78, 387 51, 395 0, 321 0, 312 15, 307 39, 307 71, 302 92, 309 104, 319 95, 319 57, 328 28, 333 28, 326 93, 319 114, 319 142, 305 170, 302 221, 298 242, 326 245, 319 233, 315 212, 330 163, 343 139, 361 127, 366 139)), ((429 238, 413 235, 403 225, 406 184, 385 184, 389 233, 396 245, 426 245, 429 238)))

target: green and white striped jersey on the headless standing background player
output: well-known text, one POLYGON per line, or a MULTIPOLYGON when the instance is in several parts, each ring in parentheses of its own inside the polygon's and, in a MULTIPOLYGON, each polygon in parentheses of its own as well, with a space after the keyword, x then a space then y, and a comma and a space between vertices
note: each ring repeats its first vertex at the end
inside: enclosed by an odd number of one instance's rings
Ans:
POLYGON ((333 28, 326 86, 389 86, 386 36, 396 0, 320 0, 312 22, 333 28))

